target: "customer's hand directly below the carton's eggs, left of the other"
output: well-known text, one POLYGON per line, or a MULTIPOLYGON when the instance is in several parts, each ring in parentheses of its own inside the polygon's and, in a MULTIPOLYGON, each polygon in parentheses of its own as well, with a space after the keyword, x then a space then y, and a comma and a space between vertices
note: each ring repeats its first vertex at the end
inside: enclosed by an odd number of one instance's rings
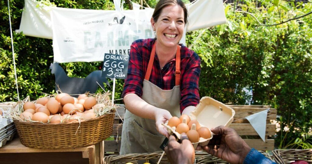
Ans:
POLYGON ((192 143, 188 140, 188 137, 185 133, 181 134, 181 144, 176 141, 176 138, 174 136, 170 136, 168 145, 165 147, 165 152, 170 163, 194 163, 194 147, 192 143))

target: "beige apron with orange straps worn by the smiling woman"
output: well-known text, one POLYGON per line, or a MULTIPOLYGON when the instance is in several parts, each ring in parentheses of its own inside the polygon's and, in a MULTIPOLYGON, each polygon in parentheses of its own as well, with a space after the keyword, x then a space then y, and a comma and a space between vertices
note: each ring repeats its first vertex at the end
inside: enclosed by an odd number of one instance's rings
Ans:
MULTIPOLYGON (((168 110, 172 116, 180 117, 180 46, 176 53, 176 85, 171 90, 161 88, 149 82, 155 56, 156 42, 154 43, 149 65, 143 81, 142 99, 158 108, 168 110)), ((120 154, 151 153, 161 151, 159 146, 165 139, 156 129, 155 120, 138 117, 128 110, 124 116, 122 127, 120 154)))

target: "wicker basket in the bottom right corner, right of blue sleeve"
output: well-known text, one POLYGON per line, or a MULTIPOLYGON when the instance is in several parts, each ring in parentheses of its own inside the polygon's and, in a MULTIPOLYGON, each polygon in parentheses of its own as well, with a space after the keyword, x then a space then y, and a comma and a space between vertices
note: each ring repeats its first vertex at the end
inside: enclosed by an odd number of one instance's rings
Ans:
POLYGON ((312 162, 312 149, 274 150, 272 153, 276 163, 286 164, 299 160, 312 162))

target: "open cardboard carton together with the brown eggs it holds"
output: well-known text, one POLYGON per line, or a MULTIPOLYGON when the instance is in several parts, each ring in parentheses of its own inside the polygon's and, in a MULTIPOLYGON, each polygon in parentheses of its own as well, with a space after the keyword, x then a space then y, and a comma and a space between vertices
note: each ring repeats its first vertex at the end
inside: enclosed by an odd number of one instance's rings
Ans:
POLYGON ((172 117, 163 124, 170 135, 175 134, 181 139, 181 134, 187 134, 194 148, 197 145, 205 146, 212 139, 213 127, 228 127, 233 121, 235 111, 221 102, 211 98, 202 97, 195 110, 189 115, 181 115, 180 118, 172 117))

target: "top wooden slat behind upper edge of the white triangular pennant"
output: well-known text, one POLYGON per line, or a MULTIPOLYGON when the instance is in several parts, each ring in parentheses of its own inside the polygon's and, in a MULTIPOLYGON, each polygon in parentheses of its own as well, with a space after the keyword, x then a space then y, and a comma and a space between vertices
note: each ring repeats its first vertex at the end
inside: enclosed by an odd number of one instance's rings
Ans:
MULTIPOLYGON (((241 118, 245 118, 247 116, 250 116, 252 114, 264 111, 264 108, 232 108, 235 110, 234 120, 238 120, 241 118)), ((267 120, 275 120, 276 119, 277 110, 272 108, 268 112, 268 115, 266 117, 267 120)))

